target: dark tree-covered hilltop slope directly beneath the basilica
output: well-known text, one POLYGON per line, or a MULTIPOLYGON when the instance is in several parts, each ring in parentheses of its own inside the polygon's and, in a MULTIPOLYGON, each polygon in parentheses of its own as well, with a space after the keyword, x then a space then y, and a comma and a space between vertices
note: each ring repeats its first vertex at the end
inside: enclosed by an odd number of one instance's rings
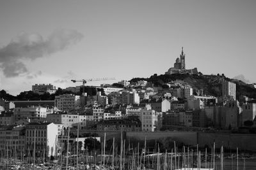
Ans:
POLYGON ((193 89, 204 90, 204 94, 210 96, 221 96, 221 81, 228 80, 236 83, 236 97, 239 99, 239 96, 248 96, 250 98, 256 99, 256 89, 247 83, 244 83, 241 80, 227 78, 224 74, 211 74, 204 75, 202 73, 199 74, 154 74, 150 76, 150 78, 132 78, 132 82, 136 82, 138 80, 145 80, 152 82, 154 86, 162 87, 165 83, 170 81, 182 80, 184 83, 191 85, 193 89))

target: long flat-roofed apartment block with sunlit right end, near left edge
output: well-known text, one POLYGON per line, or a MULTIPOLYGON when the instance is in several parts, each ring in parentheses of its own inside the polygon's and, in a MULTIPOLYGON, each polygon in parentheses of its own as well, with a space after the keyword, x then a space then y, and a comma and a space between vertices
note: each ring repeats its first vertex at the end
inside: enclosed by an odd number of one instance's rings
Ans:
POLYGON ((29 108, 14 108, 13 115, 15 121, 30 120, 31 122, 45 121, 47 116, 47 108, 41 106, 31 106, 29 108))

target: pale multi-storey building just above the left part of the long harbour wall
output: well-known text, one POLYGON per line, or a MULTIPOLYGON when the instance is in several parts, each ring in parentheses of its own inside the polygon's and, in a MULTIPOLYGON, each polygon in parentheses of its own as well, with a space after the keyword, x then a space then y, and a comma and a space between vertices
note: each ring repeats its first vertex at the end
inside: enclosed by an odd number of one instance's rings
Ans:
POLYGON ((154 110, 141 110, 141 130, 154 132, 157 128, 158 116, 154 110))

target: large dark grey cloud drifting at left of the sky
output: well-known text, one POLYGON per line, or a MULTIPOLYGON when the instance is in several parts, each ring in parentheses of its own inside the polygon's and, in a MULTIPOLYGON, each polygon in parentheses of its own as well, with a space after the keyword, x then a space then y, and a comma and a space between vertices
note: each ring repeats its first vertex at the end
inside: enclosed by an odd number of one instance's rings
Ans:
POLYGON ((22 32, 0 48, 0 68, 6 77, 28 73, 22 60, 35 60, 65 50, 81 41, 83 34, 75 30, 58 29, 44 39, 40 34, 22 32))

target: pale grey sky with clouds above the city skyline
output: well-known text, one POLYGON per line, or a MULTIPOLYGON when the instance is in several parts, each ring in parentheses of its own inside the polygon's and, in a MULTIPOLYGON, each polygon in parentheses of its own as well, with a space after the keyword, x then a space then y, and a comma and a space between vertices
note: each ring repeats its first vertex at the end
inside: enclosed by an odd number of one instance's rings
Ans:
POLYGON ((256 1, 0 1, 0 89, 114 83, 186 68, 256 82, 256 1))

